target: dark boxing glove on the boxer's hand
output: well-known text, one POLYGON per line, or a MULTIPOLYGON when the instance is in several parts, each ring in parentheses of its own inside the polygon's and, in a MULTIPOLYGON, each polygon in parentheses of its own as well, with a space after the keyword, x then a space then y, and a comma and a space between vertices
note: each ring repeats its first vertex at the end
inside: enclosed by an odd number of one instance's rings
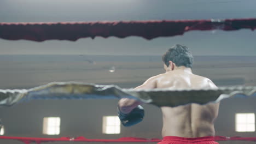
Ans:
POLYGON ((138 105, 130 113, 122 113, 118 107, 118 117, 125 127, 130 127, 143 120, 144 109, 141 105, 138 105))

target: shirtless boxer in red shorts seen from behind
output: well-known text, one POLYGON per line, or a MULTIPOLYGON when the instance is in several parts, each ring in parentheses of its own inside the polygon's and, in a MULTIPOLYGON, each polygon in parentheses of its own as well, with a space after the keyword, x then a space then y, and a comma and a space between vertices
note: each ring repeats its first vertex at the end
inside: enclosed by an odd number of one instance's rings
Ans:
MULTIPOLYGON (((150 77, 143 85, 135 89, 151 88, 213 88, 216 85, 206 77, 195 75, 191 68, 193 56, 188 47, 174 45, 163 56, 166 73, 150 77)), ((123 98, 118 103, 121 123, 131 126, 141 122, 144 110, 140 101, 123 98)), ((207 105, 188 104, 177 107, 161 107, 162 137, 159 144, 167 143, 214 143, 214 121, 218 116, 219 103, 207 105)))

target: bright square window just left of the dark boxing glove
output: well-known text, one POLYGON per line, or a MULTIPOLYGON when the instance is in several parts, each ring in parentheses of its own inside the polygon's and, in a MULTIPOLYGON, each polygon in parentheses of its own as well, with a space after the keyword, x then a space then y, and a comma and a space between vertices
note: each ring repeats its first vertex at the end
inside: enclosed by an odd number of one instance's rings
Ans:
POLYGON ((120 120, 118 116, 103 116, 103 134, 120 134, 120 120))

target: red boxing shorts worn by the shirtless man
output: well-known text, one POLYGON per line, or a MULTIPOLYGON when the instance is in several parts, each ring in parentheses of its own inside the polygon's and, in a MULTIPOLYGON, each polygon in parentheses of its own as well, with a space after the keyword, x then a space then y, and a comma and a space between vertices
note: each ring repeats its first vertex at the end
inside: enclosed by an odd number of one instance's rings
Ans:
POLYGON ((213 136, 205 136, 205 137, 195 137, 195 138, 185 138, 178 136, 165 136, 161 142, 158 144, 218 144, 218 142, 214 141, 213 136))

